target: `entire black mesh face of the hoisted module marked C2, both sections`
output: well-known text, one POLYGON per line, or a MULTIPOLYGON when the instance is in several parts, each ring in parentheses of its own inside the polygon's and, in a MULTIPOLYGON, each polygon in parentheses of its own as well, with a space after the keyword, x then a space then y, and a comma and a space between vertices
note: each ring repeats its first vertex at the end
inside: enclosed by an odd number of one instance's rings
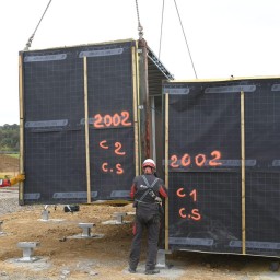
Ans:
POLYGON ((22 54, 24 203, 88 201, 83 57, 88 59, 91 197, 128 198, 135 176, 133 44, 22 54), (102 171, 104 162, 108 165, 102 171))

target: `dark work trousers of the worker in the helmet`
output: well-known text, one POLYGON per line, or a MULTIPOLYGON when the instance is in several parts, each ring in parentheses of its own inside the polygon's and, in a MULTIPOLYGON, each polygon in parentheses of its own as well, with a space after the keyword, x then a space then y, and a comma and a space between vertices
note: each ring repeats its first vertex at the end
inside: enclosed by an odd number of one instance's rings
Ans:
POLYGON ((160 214, 159 212, 147 212, 137 209, 135 219, 135 236, 132 240, 129 267, 136 269, 140 258, 141 241, 143 230, 148 231, 148 254, 145 261, 145 270, 153 270, 156 265, 158 243, 160 234, 160 214))

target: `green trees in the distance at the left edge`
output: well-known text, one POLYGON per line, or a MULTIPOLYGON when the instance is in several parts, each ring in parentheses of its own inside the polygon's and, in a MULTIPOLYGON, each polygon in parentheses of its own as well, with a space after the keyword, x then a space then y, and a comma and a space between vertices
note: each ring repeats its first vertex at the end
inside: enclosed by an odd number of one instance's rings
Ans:
POLYGON ((20 126, 3 125, 0 126, 0 151, 19 152, 20 150, 20 126))

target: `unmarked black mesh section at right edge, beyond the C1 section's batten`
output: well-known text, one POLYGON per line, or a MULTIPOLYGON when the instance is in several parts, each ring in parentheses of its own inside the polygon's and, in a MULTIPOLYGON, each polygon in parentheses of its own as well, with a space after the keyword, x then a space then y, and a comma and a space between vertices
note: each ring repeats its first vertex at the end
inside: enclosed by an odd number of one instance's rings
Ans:
POLYGON ((280 79, 245 95, 246 252, 280 256, 280 79))

